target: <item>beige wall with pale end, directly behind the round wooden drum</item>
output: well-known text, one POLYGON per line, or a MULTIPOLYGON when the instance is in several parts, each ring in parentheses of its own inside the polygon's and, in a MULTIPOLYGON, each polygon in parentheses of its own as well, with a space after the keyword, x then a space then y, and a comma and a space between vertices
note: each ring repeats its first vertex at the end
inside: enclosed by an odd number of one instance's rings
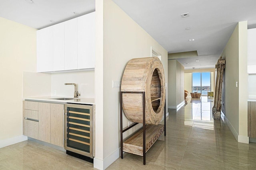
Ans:
MULTIPOLYGON (((126 63, 130 59, 150 57, 151 47, 162 55, 166 82, 168 81, 168 63, 167 51, 112 0, 96 1, 96 23, 98 24, 96 25, 98 27, 96 35, 103 34, 103 39, 97 35, 95 69, 96 162, 94 162, 94 167, 106 168, 120 154, 120 88, 112 88, 112 80, 121 81, 126 63), (103 15, 100 10, 103 10, 103 15), (103 33, 100 30, 102 25, 103 33), (99 66, 102 66, 103 69, 99 66), (97 83, 100 85, 97 85, 97 83), (101 92, 103 92, 103 96, 101 92), (99 118, 100 116, 103 119, 99 118), (100 123, 103 124, 103 127, 100 123), (103 143, 98 140, 103 140, 103 143), (103 150, 103 152, 100 150, 103 150)), ((168 95, 167 91, 166 94, 168 95)), ((168 102, 168 98, 166 102, 168 102)), ((124 127, 128 125, 125 116, 123 125, 124 127)), ((124 137, 136 129, 138 127, 124 133, 124 137)))

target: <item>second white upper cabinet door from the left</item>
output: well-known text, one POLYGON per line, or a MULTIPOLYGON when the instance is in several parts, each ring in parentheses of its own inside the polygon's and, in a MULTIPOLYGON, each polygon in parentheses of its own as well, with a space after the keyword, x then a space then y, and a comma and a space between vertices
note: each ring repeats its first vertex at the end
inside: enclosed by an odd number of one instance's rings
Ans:
POLYGON ((58 23, 52 26, 53 29, 53 71, 64 70, 65 61, 65 45, 64 23, 58 23))

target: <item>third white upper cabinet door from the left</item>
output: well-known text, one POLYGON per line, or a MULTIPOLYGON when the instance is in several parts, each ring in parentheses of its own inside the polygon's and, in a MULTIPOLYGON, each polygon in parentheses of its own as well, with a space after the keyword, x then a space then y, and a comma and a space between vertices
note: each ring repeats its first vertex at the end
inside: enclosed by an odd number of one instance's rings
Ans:
POLYGON ((77 69, 77 18, 65 24, 65 70, 77 69))

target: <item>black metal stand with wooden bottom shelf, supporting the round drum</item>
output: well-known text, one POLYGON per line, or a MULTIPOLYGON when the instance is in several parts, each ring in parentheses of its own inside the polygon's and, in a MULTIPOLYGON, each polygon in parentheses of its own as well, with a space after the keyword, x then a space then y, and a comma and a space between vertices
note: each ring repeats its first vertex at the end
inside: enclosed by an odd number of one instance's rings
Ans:
MULTIPOLYGON (((160 100, 152 98, 152 101, 160 100)), ((164 102, 165 103, 165 102, 164 102)), ((121 158, 123 158, 123 152, 136 154, 143 156, 143 164, 146 164, 146 152, 152 147, 156 140, 162 135, 166 136, 166 104, 164 104, 164 125, 150 125, 145 123, 145 92, 120 92, 120 137, 121 137, 121 158), (131 129, 138 123, 133 123, 130 127, 123 129, 122 121, 122 94, 142 94, 143 98, 143 129, 132 135, 129 139, 123 142, 123 133, 131 129)))

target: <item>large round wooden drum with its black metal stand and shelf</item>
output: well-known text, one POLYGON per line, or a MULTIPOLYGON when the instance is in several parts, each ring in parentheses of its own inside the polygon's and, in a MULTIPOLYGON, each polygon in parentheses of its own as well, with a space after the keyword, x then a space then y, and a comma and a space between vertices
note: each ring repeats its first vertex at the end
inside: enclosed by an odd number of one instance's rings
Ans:
POLYGON ((126 64, 120 90, 121 158, 123 152, 143 156, 160 135, 166 135, 166 91, 164 68, 158 57, 131 59, 126 64), (135 122, 123 129, 123 115, 135 122), (164 125, 159 124, 164 116, 164 125), (138 123, 143 128, 123 142, 123 133, 138 123))

